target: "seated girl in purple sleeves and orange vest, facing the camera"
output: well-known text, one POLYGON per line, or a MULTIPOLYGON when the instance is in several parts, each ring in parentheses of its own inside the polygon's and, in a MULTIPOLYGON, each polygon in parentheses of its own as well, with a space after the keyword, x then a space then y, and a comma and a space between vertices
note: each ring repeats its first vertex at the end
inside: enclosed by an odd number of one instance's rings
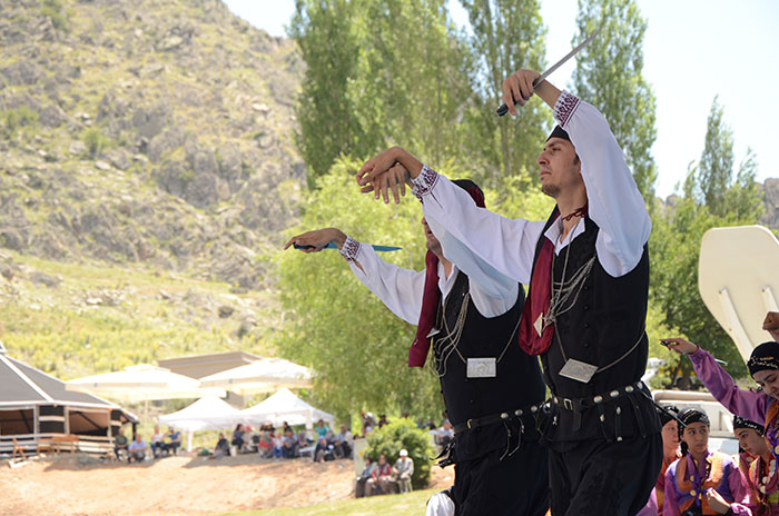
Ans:
POLYGON ((663 515, 751 515, 747 480, 729 455, 709 452, 709 417, 697 408, 681 411, 682 457, 665 472, 663 515))

